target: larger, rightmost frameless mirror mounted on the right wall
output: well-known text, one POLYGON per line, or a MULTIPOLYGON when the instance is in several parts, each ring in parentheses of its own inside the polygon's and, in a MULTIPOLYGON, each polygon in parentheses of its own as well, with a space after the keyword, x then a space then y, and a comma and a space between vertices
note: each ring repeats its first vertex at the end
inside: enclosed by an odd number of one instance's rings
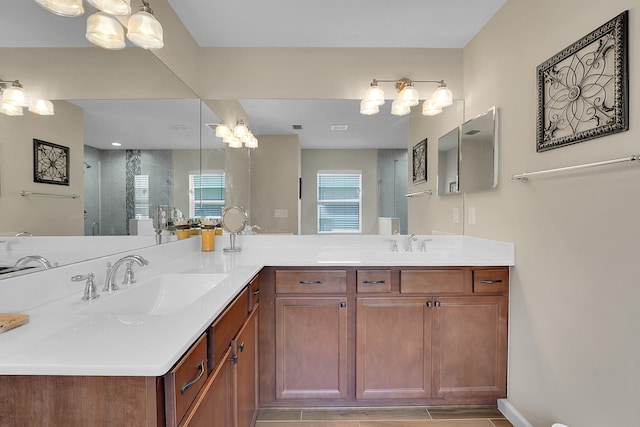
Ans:
POLYGON ((498 185, 496 122, 493 107, 460 127, 459 191, 484 191, 498 185))

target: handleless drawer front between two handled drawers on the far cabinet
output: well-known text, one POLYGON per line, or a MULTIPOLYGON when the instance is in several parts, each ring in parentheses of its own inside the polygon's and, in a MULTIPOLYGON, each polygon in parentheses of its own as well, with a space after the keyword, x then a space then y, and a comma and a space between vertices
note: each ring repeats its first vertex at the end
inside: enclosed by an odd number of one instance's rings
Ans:
POLYGON ((464 270, 403 270, 401 294, 464 293, 464 270))

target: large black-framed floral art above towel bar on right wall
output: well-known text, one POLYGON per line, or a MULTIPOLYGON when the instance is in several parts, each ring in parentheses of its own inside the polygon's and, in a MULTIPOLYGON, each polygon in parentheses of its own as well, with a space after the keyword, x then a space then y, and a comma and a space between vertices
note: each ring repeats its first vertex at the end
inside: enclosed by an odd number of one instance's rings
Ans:
POLYGON ((628 11, 537 68, 536 151, 629 129, 628 11))

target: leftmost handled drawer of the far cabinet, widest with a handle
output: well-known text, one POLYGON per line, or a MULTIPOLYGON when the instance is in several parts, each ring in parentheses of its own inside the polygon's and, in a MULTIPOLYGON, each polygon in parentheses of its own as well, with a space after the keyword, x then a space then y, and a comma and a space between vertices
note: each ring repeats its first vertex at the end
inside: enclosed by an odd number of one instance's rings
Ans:
POLYGON ((279 294, 327 294, 347 292, 344 270, 277 270, 276 292, 279 294))

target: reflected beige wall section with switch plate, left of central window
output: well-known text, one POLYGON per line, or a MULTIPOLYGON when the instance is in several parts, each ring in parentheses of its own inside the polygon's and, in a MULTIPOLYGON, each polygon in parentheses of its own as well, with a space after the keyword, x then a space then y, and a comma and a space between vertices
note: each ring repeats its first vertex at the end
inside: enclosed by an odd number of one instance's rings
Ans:
POLYGON ((251 150, 251 225, 260 233, 298 234, 298 135, 257 138, 260 145, 251 150))

